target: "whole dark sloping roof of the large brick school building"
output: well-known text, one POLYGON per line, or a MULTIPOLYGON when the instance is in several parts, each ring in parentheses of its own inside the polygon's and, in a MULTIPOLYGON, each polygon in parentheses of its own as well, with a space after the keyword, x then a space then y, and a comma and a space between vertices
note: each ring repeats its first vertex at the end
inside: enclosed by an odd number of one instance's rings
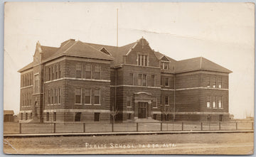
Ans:
MULTIPOLYGON (((61 43, 59 48, 43 46, 43 45, 40 45, 40 43, 37 44, 36 48, 38 48, 38 45, 39 45, 39 48, 41 48, 39 52, 42 53, 43 63, 49 60, 58 58, 60 56, 69 55, 69 56, 77 56, 82 58, 112 60, 112 66, 118 66, 123 63, 123 56, 129 54, 132 48, 134 48, 137 45, 137 43, 139 43, 139 41, 141 41, 142 39, 144 38, 141 38, 134 43, 123 45, 121 47, 112 46, 112 45, 100 45, 95 43, 83 43, 80 40, 75 41, 74 39, 69 39, 61 43), (102 50, 102 48, 104 48, 105 50, 102 50)), ((154 54, 156 55, 156 58, 158 58, 159 60, 162 60, 165 57, 164 60, 166 60, 167 58, 171 63, 174 63, 175 72, 177 73, 188 72, 193 70, 208 70, 208 71, 226 72, 226 73, 232 72, 226 69, 225 67, 222 67, 202 57, 176 61, 172 58, 169 58, 169 56, 156 51, 154 51, 154 54)), ((31 67, 33 67, 34 64, 36 63, 34 62, 29 63, 25 67, 21 68, 21 70, 18 70, 18 72, 28 70, 31 67)))

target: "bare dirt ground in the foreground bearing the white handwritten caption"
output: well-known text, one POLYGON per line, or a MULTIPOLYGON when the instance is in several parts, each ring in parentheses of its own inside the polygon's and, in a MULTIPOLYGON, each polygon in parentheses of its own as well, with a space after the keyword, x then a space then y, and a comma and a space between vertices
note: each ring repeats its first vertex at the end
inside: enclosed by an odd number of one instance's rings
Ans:
POLYGON ((253 133, 5 138, 4 153, 252 154, 253 133))

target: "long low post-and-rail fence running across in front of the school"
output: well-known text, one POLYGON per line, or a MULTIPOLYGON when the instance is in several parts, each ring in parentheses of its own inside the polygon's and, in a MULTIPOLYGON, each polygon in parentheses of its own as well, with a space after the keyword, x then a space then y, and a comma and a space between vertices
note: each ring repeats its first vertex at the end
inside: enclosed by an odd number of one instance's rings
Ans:
POLYGON ((4 134, 95 133, 139 131, 235 131, 253 130, 254 122, 49 122, 4 123, 4 134))

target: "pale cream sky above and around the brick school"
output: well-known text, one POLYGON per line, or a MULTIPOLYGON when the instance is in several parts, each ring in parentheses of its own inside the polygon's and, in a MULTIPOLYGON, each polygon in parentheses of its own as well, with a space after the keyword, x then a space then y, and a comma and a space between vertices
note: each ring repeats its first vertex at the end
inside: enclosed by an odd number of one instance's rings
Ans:
POLYGON ((59 47, 70 38, 118 45, 146 38, 175 60, 204 57, 232 70, 229 112, 253 116, 255 6, 252 3, 7 2, 4 7, 4 109, 19 112, 19 69, 36 42, 59 47))

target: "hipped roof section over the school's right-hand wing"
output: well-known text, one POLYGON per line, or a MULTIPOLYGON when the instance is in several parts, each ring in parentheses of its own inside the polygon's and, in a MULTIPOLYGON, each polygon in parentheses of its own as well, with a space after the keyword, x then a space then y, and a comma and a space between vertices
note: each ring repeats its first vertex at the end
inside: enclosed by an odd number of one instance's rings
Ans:
POLYGON ((212 61, 199 57, 199 58, 191 58, 188 60, 180 60, 176 62, 175 72, 189 72, 194 70, 207 70, 213 72, 225 72, 231 73, 231 70, 228 70, 225 67, 222 67, 212 61))

